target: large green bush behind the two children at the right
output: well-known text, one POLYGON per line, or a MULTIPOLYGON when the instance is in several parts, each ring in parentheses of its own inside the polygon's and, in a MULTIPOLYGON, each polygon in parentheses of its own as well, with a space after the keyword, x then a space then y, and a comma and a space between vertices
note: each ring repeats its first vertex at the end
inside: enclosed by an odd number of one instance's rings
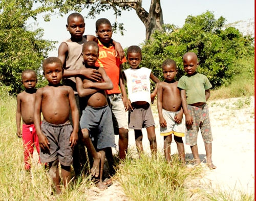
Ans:
POLYGON ((184 75, 182 56, 195 52, 200 62, 198 72, 206 75, 211 84, 222 85, 242 71, 236 61, 254 54, 253 38, 243 36, 239 30, 224 29, 225 19, 215 19, 212 12, 188 16, 182 28, 164 25, 164 31, 156 31, 154 40, 142 44, 142 65, 162 78, 161 63, 173 59, 178 65, 177 79, 184 75))

